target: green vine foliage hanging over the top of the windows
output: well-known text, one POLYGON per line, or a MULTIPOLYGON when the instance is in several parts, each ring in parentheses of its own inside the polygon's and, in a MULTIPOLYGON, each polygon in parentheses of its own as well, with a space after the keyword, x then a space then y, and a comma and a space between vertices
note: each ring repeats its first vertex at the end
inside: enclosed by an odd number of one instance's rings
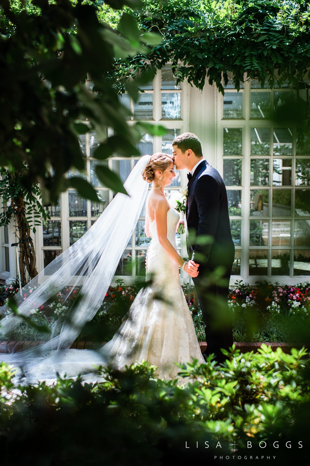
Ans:
MULTIPOLYGON (((142 30, 162 34, 163 43, 118 64, 118 76, 172 61, 176 77, 202 89, 205 80, 224 92, 228 72, 239 89, 244 75, 263 86, 295 88, 310 67, 310 5, 306 0, 143 0, 130 11, 142 30), (128 69, 126 69, 128 67, 128 69), (275 75, 275 70, 277 74, 275 75)), ((113 26, 119 12, 101 7, 98 17, 113 26)))

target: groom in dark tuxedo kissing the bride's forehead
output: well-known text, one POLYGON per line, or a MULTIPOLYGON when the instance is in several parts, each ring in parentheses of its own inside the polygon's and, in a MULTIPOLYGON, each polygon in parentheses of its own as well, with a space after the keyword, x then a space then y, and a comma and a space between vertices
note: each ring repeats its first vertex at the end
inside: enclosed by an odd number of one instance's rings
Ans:
POLYGON ((177 170, 190 171, 186 221, 189 235, 195 239, 191 241, 193 244, 188 244, 188 252, 190 259, 199 264, 199 274, 193 281, 205 321, 207 350, 204 355, 215 353, 217 361, 222 362, 225 356, 221 348, 228 350, 232 346, 227 301, 235 253, 226 188, 219 172, 203 158, 195 134, 183 133, 172 145, 177 170))

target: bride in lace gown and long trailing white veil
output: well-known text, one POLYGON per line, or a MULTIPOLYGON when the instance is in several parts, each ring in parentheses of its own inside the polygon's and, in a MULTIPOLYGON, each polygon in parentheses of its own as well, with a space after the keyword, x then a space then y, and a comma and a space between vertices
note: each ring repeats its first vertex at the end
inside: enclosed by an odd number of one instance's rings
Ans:
MULTIPOLYGON (((78 275, 77 271, 85 275, 81 299, 72 311, 71 322, 65 321, 60 335, 52 336, 40 350, 2 356, 3 361, 19 367, 18 381, 51 383, 57 373, 67 377, 82 374, 84 380, 94 381, 94 366, 124 370, 125 366, 142 360, 158 367, 157 377, 174 379, 179 371, 175 363, 190 362, 191 358, 204 363, 179 281, 179 267, 196 277, 198 266, 193 261, 184 262, 177 252, 175 233, 179 213, 170 207, 163 192, 175 176, 169 155, 155 153, 141 157, 124 184, 130 196, 117 194, 91 229, 49 264, 36 277, 36 282, 33 279, 23 289, 24 299, 18 314, 28 316, 34 312, 33 306, 50 299, 78 275), (146 271, 151 284, 140 290, 119 330, 104 347, 97 351, 69 350, 82 325, 94 316, 105 296, 140 216, 147 183, 151 182, 153 187, 146 202, 146 234, 152 238, 146 271), (40 283, 46 275, 49 278, 40 283)), ((7 305, 4 311, 5 308, 7 305)), ((19 322, 19 317, 5 316, 1 320, 2 334, 19 322)))

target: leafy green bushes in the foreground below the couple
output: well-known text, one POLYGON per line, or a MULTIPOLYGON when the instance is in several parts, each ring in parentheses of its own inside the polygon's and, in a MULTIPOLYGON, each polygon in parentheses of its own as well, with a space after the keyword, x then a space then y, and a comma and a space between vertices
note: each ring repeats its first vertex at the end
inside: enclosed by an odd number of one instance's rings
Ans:
MULTIPOLYGON (((154 379, 154 369, 147 363, 124 372, 99 368, 106 382, 58 379, 55 386, 18 387, 12 396, 12 374, 1 364, 2 463, 222 464, 219 455, 234 454, 248 465, 246 454, 260 460, 262 454, 277 454, 274 465, 303 464, 310 415, 305 350, 285 354, 262 346, 257 354, 235 350, 221 365, 211 357, 200 366, 193 361, 180 367, 180 377, 192 381, 183 386, 154 379), (273 448, 275 441, 279 449, 273 448), (292 449, 285 447, 287 441, 292 449), (298 441, 304 449, 298 449, 298 441)), ((264 456, 259 464, 269 463, 264 456)))

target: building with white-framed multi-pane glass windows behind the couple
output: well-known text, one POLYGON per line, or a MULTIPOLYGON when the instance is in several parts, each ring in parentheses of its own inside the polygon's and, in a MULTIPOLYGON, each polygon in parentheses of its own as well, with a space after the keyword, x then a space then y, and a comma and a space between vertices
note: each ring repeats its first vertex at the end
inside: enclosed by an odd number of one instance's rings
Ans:
MULTIPOLYGON (((90 84, 89 84, 90 85, 90 84)), ((202 91, 181 83, 176 85, 171 65, 158 71, 144 87, 139 100, 122 96, 131 108, 129 124, 145 120, 166 127, 164 136, 144 134, 141 155, 154 152, 172 154, 175 136, 195 133, 201 141, 204 158, 222 175, 228 192, 230 227, 235 244, 231 284, 236 280, 300 283, 310 275, 310 152, 296 148, 295 128, 273 123, 273 111, 281 105, 289 87, 261 88, 255 80, 245 80, 237 92, 232 81, 224 97, 215 86, 202 91)), ((308 90, 299 91, 308 101, 308 90)), ((50 220, 33 234, 37 270, 42 270, 62 251, 75 243, 96 221, 115 193, 101 185, 97 164, 107 164, 124 182, 139 159, 114 154, 98 161, 93 152, 95 133, 81 136, 86 171, 82 176, 97 190, 101 202, 83 199, 70 188, 49 208, 50 220)), ((176 171, 167 194, 187 184, 186 171, 176 171)), ((68 177, 72 176, 68 172, 68 177)), ((151 238, 145 234, 145 206, 124 251, 115 279, 126 283, 144 280, 145 258, 151 238)), ((15 225, 1 228, 0 279, 16 277, 15 225)), ((182 257, 187 256, 185 235, 177 235, 182 257)), ((188 276, 181 271, 182 280, 188 276)))

